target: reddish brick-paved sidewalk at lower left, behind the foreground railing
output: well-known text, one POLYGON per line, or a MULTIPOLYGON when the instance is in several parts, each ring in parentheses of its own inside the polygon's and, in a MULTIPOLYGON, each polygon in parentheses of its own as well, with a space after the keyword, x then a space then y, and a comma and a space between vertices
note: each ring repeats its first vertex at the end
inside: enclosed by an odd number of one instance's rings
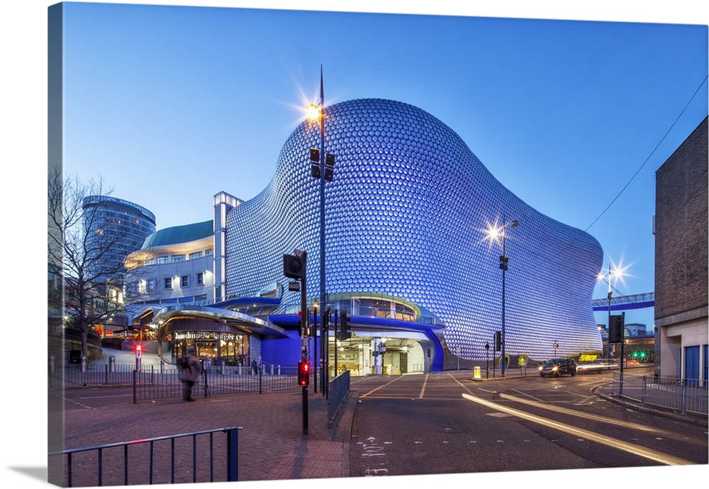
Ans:
MULTIPOLYGON (((340 406, 333 427, 328 428, 328 400, 320 392, 313 393, 311 388, 308 392, 307 434, 303 433, 301 391, 197 398, 194 403, 164 400, 121 403, 106 408, 72 408, 65 411, 65 448, 240 427, 239 480, 347 477, 350 475, 350 429, 356 402, 356 395, 350 393, 340 406)), ((225 467, 223 452, 223 449, 215 450, 216 466, 223 462, 225 467)), ((160 456, 166 459, 168 454, 160 456)), ((132 458, 130 470, 147 474, 148 461, 145 459, 134 461, 132 458)), ((120 473, 123 470, 122 460, 120 462, 114 461, 111 466, 104 463, 104 473, 120 473)), ((220 471, 224 470, 220 468, 220 471)), ((163 473, 161 479, 167 477, 169 474, 163 473)), ((95 479, 88 483, 95 484, 95 479)), ((74 485, 87 484, 75 480, 74 485)))

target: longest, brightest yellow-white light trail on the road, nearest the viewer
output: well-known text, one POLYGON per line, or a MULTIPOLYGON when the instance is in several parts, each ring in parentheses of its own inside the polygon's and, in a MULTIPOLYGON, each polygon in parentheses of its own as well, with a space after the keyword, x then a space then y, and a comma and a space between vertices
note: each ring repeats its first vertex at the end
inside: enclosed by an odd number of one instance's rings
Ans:
POLYGON ((523 420, 528 420, 531 422, 538 423, 540 425, 544 425, 547 427, 550 427, 552 429, 558 429, 561 432, 568 433, 568 434, 573 434, 578 437, 584 437, 584 439, 591 440, 592 442, 596 442, 605 446, 610 446, 615 449, 627 451, 630 454, 635 454, 637 456, 642 456, 646 459, 654 460, 659 463, 664 463, 666 465, 696 465, 693 462, 686 461, 684 459, 680 459, 679 457, 674 457, 671 455, 666 455, 666 454, 661 454, 659 451, 654 451, 652 449, 647 449, 644 446, 639 446, 635 445, 632 443, 626 443, 618 439, 614 439, 611 437, 605 437, 604 435, 590 432, 586 429, 581 429, 581 428, 576 428, 571 425, 565 425, 564 423, 560 423, 554 420, 548 420, 545 417, 537 416, 537 415, 532 415, 528 412, 516 410, 513 408, 508 408, 505 405, 499 405, 496 403, 491 403, 488 400, 484 400, 482 398, 478 398, 474 395, 469 395, 469 394, 461 394, 463 398, 467 400, 471 400, 474 403, 478 403, 481 405, 486 406, 487 408, 493 408, 498 411, 502 412, 507 412, 510 415, 514 415, 516 417, 520 417, 523 420))

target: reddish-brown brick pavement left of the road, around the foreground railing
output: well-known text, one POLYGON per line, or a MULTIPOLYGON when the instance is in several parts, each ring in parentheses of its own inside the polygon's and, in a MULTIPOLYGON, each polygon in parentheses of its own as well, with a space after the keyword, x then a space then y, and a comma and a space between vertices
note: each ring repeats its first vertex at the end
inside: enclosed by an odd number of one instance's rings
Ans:
MULTIPOLYGON (((82 448, 135 439, 241 427, 238 432, 239 480, 292 480, 349 476, 349 441, 356 404, 351 394, 328 428, 327 400, 308 393, 308 433, 303 433, 302 395, 287 393, 239 394, 182 400, 121 403, 105 408, 69 409, 64 414, 65 449, 82 448)), ((192 437, 176 442, 176 482, 208 482, 207 435, 197 437, 196 473, 193 472, 192 437), (196 475, 196 479, 194 476, 196 475)), ((225 480, 225 435, 213 437, 215 481, 225 480)), ((129 484, 147 484, 149 444, 129 449, 129 484), (138 448, 140 447, 140 448, 138 448)), ((104 485, 123 485, 123 451, 106 450, 102 461, 104 485)), ((169 483, 169 442, 155 443, 153 483, 169 483)), ((96 452, 75 456, 74 486, 97 485, 96 452)))

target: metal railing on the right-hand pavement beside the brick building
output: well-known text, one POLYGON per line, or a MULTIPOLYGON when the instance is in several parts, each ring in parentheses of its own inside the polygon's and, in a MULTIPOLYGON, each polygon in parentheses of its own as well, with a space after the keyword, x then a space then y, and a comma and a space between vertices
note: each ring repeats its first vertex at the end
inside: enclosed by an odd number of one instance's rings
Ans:
POLYGON ((613 372, 611 395, 678 412, 708 414, 707 381, 613 372))

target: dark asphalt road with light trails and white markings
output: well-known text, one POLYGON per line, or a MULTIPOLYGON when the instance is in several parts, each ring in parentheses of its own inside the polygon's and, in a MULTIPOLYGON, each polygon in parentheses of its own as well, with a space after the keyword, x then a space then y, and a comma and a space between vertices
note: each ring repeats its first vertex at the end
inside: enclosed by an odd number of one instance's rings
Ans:
MULTIPOLYGON (((640 373, 640 372, 639 372, 640 373)), ((707 430, 593 395, 610 373, 356 378, 352 476, 708 463, 707 430)))

